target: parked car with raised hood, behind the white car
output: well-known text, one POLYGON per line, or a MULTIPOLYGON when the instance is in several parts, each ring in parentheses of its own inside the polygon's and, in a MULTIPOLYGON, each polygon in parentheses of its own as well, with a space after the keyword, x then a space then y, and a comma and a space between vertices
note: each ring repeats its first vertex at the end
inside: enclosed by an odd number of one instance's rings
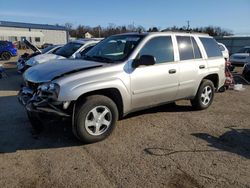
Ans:
POLYGON ((20 73, 23 73, 26 70, 25 67, 25 62, 28 61, 30 58, 35 57, 40 54, 53 54, 55 53, 58 49, 62 47, 62 45, 51 45, 48 46, 42 50, 34 46, 32 43, 29 41, 25 40, 24 43, 26 46, 28 46, 34 53, 29 54, 29 53, 24 53, 21 55, 17 61, 17 71, 20 73))

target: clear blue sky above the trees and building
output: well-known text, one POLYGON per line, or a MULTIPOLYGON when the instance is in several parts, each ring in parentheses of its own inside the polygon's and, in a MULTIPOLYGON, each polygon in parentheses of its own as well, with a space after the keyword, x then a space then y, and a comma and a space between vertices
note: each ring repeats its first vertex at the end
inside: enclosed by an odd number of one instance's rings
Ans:
MULTIPOLYGON (((3 0, 2 0, 3 1, 3 0)), ((0 20, 88 26, 220 26, 250 34, 250 0, 9 0, 1 3, 0 20)))

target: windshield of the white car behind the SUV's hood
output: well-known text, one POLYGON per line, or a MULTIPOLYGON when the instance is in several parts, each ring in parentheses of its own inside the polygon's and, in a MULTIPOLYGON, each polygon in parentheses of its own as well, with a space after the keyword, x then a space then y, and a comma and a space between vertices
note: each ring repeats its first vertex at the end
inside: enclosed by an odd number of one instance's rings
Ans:
POLYGON ((76 42, 69 42, 68 44, 61 47, 59 50, 55 52, 56 55, 60 55, 66 58, 69 58, 73 55, 83 44, 76 42))

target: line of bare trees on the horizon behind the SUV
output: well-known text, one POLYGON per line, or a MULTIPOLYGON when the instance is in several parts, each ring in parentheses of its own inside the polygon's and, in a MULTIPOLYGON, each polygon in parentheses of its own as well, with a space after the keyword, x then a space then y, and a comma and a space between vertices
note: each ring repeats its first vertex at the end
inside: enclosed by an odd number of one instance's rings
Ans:
POLYGON ((195 28, 187 28, 183 27, 167 27, 165 29, 160 29, 159 27, 151 27, 149 29, 145 29, 143 26, 135 26, 131 25, 123 25, 117 26, 115 24, 109 24, 106 27, 96 26, 90 27, 85 25, 78 25, 77 27, 73 27, 73 24, 66 23, 65 27, 68 29, 71 37, 76 38, 84 38, 85 33, 89 32, 93 37, 108 37, 114 34, 120 33, 130 33, 130 32, 159 32, 159 31, 182 31, 182 32, 198 32, 198 33, 207 33, 211 36, 228 36, 233 35, 233 32, 228 29, 223 29, 221 27, 216 26, 207 26, 207 27, 195 27, 195 28))

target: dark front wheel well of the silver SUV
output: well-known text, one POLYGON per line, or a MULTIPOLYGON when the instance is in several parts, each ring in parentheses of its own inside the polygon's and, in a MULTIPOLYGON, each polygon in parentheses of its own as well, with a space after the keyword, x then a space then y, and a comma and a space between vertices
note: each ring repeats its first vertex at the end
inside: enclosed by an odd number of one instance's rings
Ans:
POLYGON ((119 119, 122 118, 122 116, 123 116, 123 100, 122 100, 121 93, 118 89, 108 88, 108 89, 101 89, 101 90, 95 90, 95 91, 91 91, 88 93, 84 93, 76 100, 76 104, 83 103, 85 101, 86 97, 91 96, 91 95, 104 95, 104 96, 112 99, 117 106, 117 109, 119 112, 119 119))

